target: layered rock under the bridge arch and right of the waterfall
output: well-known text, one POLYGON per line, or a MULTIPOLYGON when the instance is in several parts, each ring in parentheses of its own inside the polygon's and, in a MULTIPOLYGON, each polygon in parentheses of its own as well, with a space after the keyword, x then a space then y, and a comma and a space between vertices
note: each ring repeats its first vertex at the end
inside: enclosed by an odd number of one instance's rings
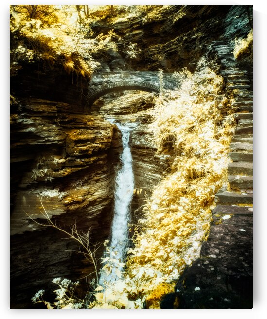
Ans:
POLYGON ((153 132, 149 129, 154 94, 125 91, 104 95, 92 106, 92 111, 119 123, 138 123, 130 134, 135 192, 132 200, 132 218, 136 223, 142 216, 145 199, 169 171, 169 157, 157 154, 153 132), (114 99, 116 97, 116 100, 114 99))

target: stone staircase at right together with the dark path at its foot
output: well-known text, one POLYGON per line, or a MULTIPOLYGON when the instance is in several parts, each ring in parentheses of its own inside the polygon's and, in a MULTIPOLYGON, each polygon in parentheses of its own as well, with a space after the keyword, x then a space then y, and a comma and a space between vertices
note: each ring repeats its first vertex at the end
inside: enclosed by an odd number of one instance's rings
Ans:
POLYGON ((209 59, 220 65, 225 95, 236 127, 228 183, 215 195, 208 240, 175 291, 185 308, 252 308, 253 296, 253 96, 252 81, 224 41, 215 41, 209 59))

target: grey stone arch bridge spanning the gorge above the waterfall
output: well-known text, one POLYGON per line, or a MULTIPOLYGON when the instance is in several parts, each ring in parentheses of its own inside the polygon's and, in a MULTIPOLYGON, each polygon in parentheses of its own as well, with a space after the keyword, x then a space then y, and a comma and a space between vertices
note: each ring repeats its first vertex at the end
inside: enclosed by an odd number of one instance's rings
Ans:
MULTIPOLYGON (((177 81, 174 73, 163 73, 163 89, 175 89, 177 81)), ((88 87, 88 106, 101 96, 124 90, 160 92, 159 71, 120 71, 94 74, 88 87)))

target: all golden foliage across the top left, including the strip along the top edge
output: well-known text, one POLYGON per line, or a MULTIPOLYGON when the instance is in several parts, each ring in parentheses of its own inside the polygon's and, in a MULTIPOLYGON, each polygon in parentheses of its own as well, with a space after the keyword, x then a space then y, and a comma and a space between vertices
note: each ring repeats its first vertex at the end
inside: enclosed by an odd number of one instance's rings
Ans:
MULTIPOLYGON (((99 63, 95 53, 122 51, 129 58, 140 52, 136 43, 122 41, 114 31, 94 36, 92 27, 102 20, 126 21, 137 16, 156 18, 165 6, 80 6, 12 5, 10 6, 11 76, 22 62, 42 61, 49 67, 63 65, 68 72, 91 77, 99 63), (81 14, 83 12, 84 14, 81 14)), ((160 13, 160 17, 162 12, 160 13)))

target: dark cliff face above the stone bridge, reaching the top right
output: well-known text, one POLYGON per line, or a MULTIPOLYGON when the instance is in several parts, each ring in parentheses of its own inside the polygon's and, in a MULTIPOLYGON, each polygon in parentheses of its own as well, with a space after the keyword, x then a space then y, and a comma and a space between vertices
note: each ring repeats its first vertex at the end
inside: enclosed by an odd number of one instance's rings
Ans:
POLYGON ((129 18, 123 22, 95 24, 95 34, 114 30, 128 43, 137 43, 140 54, 130 60, 123 52, 110 51, 108 58, 97 56, 100 71, 158 70, 194 71, 199 58, 214 40, 246 37, 252 28, 247 6, 169 6, 157 16, 129 18))

